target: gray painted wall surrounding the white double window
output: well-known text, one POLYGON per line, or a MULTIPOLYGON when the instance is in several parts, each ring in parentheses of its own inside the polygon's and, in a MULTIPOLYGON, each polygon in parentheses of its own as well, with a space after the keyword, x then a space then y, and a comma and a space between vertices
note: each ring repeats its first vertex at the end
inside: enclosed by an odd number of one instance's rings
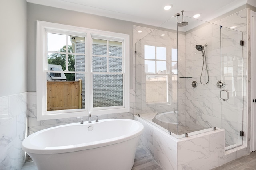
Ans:
MULTIPOLYGON (((86 12, 86 11, 85 11, 86 12)), ((130 35, 130 88, 132 89, 132 25, 149 25, 28 3, 28 92, 36 91, 36 20, 130 35)))

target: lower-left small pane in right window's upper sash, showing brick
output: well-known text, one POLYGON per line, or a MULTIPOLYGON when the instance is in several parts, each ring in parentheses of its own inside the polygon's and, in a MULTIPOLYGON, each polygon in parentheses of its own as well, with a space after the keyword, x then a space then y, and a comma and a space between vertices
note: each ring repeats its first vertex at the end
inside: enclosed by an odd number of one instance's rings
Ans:
POLYGON ((107 72, 107 57, 92 56, 92 72, 107 72))

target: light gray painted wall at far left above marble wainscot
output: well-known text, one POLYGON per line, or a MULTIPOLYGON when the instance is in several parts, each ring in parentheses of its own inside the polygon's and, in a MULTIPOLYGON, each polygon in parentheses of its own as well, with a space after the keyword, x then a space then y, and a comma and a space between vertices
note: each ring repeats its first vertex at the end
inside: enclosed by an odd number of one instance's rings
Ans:
POLYGON ((27 92, 26 0, 8 0, 1 3, 0 16, 0 97, 2 97, 27 92))

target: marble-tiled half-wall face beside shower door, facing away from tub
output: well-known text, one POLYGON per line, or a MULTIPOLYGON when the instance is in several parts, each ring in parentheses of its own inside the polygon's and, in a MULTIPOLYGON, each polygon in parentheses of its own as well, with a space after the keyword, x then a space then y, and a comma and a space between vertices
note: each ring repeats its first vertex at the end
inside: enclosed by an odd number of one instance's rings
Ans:
POLYGON ((224 164, 224 130, 218 129, 178 141, 178 170, 210 170, 224 164))

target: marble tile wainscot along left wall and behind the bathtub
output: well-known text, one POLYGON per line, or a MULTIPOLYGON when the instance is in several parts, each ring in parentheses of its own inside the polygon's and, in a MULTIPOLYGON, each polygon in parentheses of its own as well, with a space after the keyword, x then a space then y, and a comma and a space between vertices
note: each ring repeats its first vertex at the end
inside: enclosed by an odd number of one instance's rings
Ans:
MULTIPOLYGON (((133 106, 132 106, 133 107, 133 106)), ((131 111, 133 111, 131 107, 131 111)), ((133 113, 102 115, 99 119, 133 119, 133 113)), ((92 118, 94 119, 94 118, 92 118)), ((86 118, 85 118, 86 120, 86 118)), ((25 152, 21 149, 26 135, 36 131, 77 122, 76 117, 68 119, 36 120, 36 92, 26 92, 0 98, 0 169, 21 169, 25 152), (26 125, 27 123, 27 125, 26 125), (26 127, 27 126, 27 127, 26 127), (26 128, 28 128, 26 134, 26 128)))

